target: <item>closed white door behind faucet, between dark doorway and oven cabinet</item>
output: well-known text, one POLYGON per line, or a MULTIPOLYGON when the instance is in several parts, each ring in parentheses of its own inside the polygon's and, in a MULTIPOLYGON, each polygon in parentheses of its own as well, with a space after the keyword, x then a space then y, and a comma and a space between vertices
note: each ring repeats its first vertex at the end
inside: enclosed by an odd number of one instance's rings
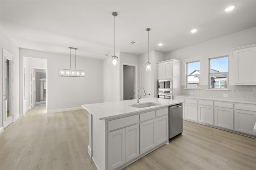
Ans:
POLYGON ((140 87, 143 87, 147 93, 146 96, 143 95, 142 91, 139 92, 139 97, 141 94, 141 98, 151 98, 151 72, 146 71, 146 64, 140 65, 140 87))

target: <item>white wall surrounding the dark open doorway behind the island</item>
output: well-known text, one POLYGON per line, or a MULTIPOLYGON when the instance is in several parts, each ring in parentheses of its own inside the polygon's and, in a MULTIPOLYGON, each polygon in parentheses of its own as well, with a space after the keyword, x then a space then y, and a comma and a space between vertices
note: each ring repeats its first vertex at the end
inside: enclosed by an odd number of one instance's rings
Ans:
POLYGON ((124 98, 124 65, 135 66, 135 98, 137 98, 137 89, 139 86, 139 57, 129 53, 120 52, 120 100, 124 98))

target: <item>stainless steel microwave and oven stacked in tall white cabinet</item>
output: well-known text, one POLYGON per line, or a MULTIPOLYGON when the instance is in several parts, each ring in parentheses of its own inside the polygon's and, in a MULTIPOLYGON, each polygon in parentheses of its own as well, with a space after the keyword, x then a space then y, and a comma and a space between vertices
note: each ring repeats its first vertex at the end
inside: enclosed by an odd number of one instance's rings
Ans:
POLYGON ((158 80, 158 98, 172 99, 172 79, 158 80))

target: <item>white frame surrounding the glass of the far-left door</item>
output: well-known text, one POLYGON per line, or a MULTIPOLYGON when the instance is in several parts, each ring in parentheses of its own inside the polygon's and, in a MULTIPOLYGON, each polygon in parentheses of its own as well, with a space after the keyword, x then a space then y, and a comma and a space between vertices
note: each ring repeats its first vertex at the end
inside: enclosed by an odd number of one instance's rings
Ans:
POLYGON ((11 65, 10 65, 10 113, 12 116, 9 117, 8 120, 5 120, 5 100, 2 101, 2 118, 3 118, 3 127, 4 129, 10 125, 11 123, 14 122, 14 116, 13 116, 13 57, 14 55, 12 55, 10 52, 8 52, 6 49, 3 48, 3 67, 2 67, 2 71, 3 71, 3 88, 2 88, 2 94, 4 96, 5 94, 5 76, 4 76, 4 73, 5 73, 5 59, 7 58, 8 60, 10 60, 11 62, 11 65))

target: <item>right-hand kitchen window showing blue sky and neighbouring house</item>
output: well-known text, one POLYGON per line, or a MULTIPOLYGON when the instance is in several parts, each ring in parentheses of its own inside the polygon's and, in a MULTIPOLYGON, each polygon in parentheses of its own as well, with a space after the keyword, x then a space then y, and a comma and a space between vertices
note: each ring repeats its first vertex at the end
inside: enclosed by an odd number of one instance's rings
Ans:
POLYGON ((210 89, 225 89, 228 87, 228 57, 209 59, 210 89))

